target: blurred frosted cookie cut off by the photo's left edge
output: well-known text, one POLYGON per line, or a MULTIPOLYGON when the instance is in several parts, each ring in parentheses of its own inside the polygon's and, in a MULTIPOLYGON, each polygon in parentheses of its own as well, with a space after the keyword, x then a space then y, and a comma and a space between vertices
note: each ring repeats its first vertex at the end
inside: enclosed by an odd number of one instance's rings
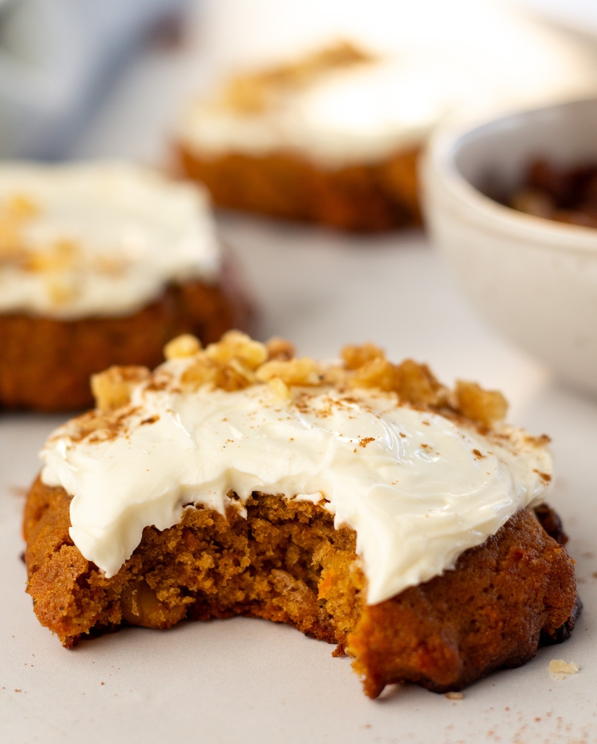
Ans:
POLYGON ((216 341, 248 309, 193 185, 123 162, 0 167, 0 408, 92 402, 89 376, 216 341))

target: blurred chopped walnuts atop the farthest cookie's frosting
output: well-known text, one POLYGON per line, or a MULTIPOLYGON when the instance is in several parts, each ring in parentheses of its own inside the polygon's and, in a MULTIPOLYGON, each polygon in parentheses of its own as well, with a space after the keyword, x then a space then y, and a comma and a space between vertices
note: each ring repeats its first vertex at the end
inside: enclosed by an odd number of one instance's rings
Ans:
POLYGON ((271 106, 279 92, 309 86, 330 70, 374 60, 349 42, 337 42, 296 62, 233 77, 224 90, 222 103, 241 114, 258 114, 271 106))

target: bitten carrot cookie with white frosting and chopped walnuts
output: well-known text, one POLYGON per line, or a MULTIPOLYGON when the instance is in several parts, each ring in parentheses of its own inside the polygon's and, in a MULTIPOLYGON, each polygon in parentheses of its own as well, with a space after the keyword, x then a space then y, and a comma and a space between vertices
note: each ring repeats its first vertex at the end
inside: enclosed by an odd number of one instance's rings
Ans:
POLYGON ((66 647, 268 618, 337 644, 375 697, 459 690, 569 635, 549 440, 502 423, 499 393, 372 344, 320 365, 234 331, 166 356, 95 376, 97 408, 42 452, 28 591, 66 647))

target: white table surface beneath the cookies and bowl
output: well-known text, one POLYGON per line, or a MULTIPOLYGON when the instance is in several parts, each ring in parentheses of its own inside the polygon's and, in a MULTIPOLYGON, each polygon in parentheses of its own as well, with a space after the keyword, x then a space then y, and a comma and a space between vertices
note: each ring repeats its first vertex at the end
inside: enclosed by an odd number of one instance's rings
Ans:
MULTIPOLYGON (((73 154, 159 160, 192 66, 184 51, 148 53, 73 154), (152 106, 156 100, 163 107, 152 106)), ((500 388, 514 422, 552 436, 558 475, 549 500, 571 536, 584 613, 566 644, 472 685, 459 701, 413 686, 390 687, 371 701, 332 647, 262 620, 126 629, 64 650, 33 615, 19 559, 23 490, 62 417, 0 414, 0 740, 597 742, 596 403, 561 388, 483 326, 418 232, 346 237, 237 215, 218 219, 259 298, 261 338, 287 336, 301 352, 324 357, 347 341, 375 341, 394 359, 429 362, 445 382, 462 377, 500 388), (555 681, 552 658, 581 670, 555 681)))

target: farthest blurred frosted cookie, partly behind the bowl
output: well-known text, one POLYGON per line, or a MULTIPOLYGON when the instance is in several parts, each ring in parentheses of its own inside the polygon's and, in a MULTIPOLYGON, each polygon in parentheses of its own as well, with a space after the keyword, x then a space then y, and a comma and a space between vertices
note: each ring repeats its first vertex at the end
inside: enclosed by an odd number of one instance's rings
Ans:
POLYGON ((419 151, 454 96, 429 54, 339 42, 194 100, 178 153, 225 207, 349 230, 416 225, 419 151))

